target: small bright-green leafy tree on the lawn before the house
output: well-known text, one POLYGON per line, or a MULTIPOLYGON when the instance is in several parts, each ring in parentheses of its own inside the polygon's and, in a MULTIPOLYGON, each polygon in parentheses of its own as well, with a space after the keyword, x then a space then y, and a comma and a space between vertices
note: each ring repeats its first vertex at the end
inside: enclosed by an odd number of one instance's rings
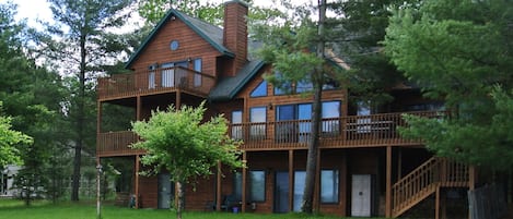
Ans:
POLYGON ((205 102, 198 108, 183 106, 167 111, 154 111, 151 119, 132 124, 141 142, 133 148, 145 149, 141 158, 150 172, 167 170, 171 180, 177 183, 177 218, 182 218, 183 183, 194 183, 198 177, 212 174, 212 168, 222 162, 233 168, 243 167, 237 150, 238 142, 226 135, 228 121, 218 115, 203 121, 205 102))

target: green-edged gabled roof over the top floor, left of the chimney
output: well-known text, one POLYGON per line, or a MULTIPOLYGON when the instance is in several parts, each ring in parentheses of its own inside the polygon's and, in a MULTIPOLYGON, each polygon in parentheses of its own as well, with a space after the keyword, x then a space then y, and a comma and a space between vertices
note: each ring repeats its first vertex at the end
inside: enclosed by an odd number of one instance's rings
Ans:
POLYGON ((230 51, 226 47, 223 46, 223 29, 203 22, 199 19, 191 17, 185 13, 182 13, 177 10, 171 9, 167 14, 156 24, 150 35, 144 39, 142 45, 132 53, 128 62, 125 64, 125 68, 129 68, 132 62, 141 54, 141 52, 147 48, 151 40, 156 36, 156 33, 166 24, 168 20, 179 19, 188 27, 190 27, 196 34, 207 40, 213 48, 224 56, 235 57, 235 54, 230 51))

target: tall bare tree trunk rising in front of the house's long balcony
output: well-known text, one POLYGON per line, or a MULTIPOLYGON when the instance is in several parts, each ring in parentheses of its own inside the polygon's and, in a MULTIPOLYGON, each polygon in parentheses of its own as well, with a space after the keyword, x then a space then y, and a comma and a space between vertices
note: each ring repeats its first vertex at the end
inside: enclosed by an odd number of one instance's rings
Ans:
MULTIPOLYGON (((326 0, 319 0, 319 21, 318 21, 318 38, 320 39, 317 45, 317 57, 324 59, 324 21, 326 16, 326 0)), ((312 75, 314 85, 314 102, 312 111, 312 135, 308 139, 308 153, 306 157, 306 177, 305 186, 303 191, 303 202, 301 211, 306 214, 313 212, 315 179, 317 174, 317 153, 318 153, 318 138, 320 132, 320 113, 322 113, 322 95, 323 95, 323 68, 317 66, 312 75)))

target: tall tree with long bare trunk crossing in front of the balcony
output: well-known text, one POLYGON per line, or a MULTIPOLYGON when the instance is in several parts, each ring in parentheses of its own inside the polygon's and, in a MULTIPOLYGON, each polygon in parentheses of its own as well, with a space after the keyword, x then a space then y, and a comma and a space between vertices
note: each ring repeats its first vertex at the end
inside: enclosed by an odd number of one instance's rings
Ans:
POLYGON ((303 212, 312 214, 323 86, 334 80, 340 69, 326 62, 328 54, 325 47, 330 34, 329 29, 325 28, 326 1, 319 1, 318 8, 313 8, 318 10, 317 22, 312 21, 314 10, 311 7, 293 8, 288 1, 282 3, 294 11, 295 16, 277 16, 278 21, 256 22, 253 28, 255 37, 264 41, 264 46, 257 51, 258 56, 272 65, 273 73, 267 73, 266 80, 285 93, 308 90, 306 95, 313 97, 312 134, 308 138, 306 179, 301 207, 303 212))

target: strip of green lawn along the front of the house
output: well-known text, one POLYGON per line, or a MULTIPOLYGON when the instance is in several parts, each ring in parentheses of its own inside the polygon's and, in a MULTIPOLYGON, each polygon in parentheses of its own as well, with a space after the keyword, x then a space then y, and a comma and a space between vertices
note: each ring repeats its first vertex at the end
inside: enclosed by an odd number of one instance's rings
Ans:
MULTIPOLYGON (((102 208, 103 219, 172 219, 175 212, 156 209, 129 209, 105 205, 102 208)), ((20 200, 0 199, 0 218, 13 219, 95 219, 96 206, 94 203, 51 204, 36 202, 31 207, 23 206, 20 200)), ((231 214, 231 212, 185 212, 184 219, 340 219, 331 216, 304 216, 300 214, 231 214)))

